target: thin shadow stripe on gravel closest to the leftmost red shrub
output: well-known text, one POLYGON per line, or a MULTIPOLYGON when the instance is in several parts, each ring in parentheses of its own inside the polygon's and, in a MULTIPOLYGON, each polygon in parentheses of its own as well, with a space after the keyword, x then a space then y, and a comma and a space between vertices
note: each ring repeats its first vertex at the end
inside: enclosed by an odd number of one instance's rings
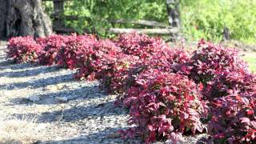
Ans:
MULTIPOLYGON (((20 65, 25 65, 22 66, 23 68, 30 68, 31 66, 28 64, 20 64, 20 65)), ((1 63, 0 63, 1 66, 1 63)), ((12 68, 13 70, 19 70, 20 68, 12 68)), ((30 76, 35 76, 38 74, 46 74, 50 72, 54 72, 59 70, 60 68, 57 66, 40 66, 40 67, 34 67, 33 70, 22 70, 22 71, 10 71, 10 72, 3 72, 0 73, 0 77, 6 76, 9 78, 21 78, 21 77, 30 77, 30 76)))

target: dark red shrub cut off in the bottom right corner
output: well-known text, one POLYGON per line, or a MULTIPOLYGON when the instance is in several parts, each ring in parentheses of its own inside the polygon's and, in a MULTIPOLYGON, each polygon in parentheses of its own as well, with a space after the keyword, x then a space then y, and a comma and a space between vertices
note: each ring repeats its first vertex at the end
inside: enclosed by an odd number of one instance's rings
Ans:
POLYGON ((209 134, 217 143, 256 142, 256 93, 239 93, 212 103, 209 134))

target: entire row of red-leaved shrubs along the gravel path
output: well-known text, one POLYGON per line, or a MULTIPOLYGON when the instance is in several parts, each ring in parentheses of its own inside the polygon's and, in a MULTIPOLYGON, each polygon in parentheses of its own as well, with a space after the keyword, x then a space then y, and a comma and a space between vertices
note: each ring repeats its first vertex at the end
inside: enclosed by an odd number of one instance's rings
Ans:
POLYGON ((256 141, 256 76, 238 50, 201 40, 189 53, 161 38, 121 34, 11 38, 8 58, 15 62, 76 69, 78 79, 94 80, 117 104, 130 110, 123 138, 140 135, 146 143, 208 132, 209 141, 256 141))

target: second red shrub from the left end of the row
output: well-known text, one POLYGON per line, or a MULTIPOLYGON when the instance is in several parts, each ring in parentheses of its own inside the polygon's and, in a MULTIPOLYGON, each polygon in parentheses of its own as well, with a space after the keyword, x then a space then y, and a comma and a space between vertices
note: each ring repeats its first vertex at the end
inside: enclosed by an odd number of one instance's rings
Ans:
POLYGON ((47 38, 38 38, 37 42, 43 47, 39 54, 38 62, 50 66, 58 62, 57 56, 60 50, 66 47, 68 37, 63 35, 51 35, 47 38))

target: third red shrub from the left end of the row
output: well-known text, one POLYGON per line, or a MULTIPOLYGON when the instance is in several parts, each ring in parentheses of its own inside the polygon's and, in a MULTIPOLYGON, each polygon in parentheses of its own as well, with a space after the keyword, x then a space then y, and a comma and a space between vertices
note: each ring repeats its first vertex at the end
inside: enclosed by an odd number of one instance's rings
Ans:
POLYGON ((96 42, 94 35, 70 35, 66 46, 58 54, 58 65, 69 69, 83 66, 87 55, 94 52, 93 46, 96 42))

